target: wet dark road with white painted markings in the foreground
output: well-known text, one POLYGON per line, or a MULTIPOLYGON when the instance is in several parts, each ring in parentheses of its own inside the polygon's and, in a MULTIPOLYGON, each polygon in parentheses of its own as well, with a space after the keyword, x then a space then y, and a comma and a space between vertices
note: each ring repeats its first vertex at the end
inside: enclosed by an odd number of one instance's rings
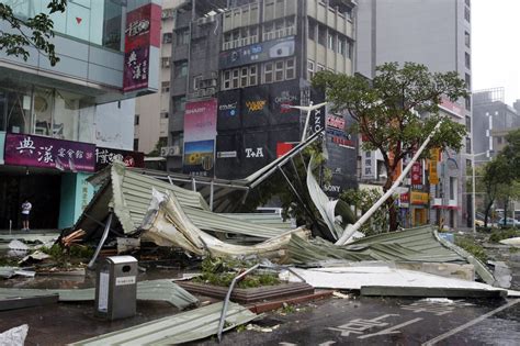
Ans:
POLYGON ((520 300, 330 299, 253 323, 274 328, 230 332, 219 345, 519 345, 520 300))

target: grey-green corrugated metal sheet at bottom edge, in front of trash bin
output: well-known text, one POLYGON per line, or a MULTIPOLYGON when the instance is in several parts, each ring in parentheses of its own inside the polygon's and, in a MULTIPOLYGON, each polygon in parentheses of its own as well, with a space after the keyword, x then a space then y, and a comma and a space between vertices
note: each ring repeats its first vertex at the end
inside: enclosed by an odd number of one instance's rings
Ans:
MULTIPOLYGON (((201 339, 217 334, 222 306, 222 302, 211 304, 71 345, 172 345, 201 339)), ((248 309, 229 303, 224 331, 231 330, 256 317, 257 315, 248 309)))

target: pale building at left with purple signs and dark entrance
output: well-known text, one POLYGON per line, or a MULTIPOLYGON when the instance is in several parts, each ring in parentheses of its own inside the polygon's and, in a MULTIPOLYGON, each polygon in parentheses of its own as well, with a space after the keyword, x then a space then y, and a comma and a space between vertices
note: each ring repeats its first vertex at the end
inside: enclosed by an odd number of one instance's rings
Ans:
MULTIPOLYGON (((20 18, 46 11, 38 0, 3 3, 20 18)), ((1 228, 21 226, 24 199, 33 228, 71 226, 93 193, 92 172, 143 159, 129 152, 132 98, 158 88, 159 3, 68 1, 52 15, 56 66, 33 47, 27 60, 0 51, 1 228)), ((0 30, 15 33, 5 21, 0 30)))

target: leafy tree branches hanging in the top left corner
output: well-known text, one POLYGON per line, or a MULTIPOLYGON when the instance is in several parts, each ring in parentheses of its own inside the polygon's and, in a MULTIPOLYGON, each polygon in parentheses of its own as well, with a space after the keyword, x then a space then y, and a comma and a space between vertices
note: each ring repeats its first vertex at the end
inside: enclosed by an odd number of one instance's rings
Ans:
POLYGON ((59 57, 56 56, 55 46, 50 43, 50 38, 54 37, 50 14, 64 12, 67 0, 49 0, 48 13, 38 13, 30 18, 18 16, 13 12, 16 1, 10 3, 11 5, 0 3, 0 19, 8 23, 8 27, 10 26, 8 31, 0 30, 0 51, 27 60, 30 56, 27 47, 35 47, 47 56, 52 66, 55 66, 59 57))

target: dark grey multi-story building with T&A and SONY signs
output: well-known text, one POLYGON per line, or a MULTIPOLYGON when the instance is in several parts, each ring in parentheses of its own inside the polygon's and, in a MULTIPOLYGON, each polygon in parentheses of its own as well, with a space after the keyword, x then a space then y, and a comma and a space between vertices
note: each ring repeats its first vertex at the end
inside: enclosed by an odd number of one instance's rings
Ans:
MULTIPOLYGON (((197 2, 195 2, 197 3, 197 2)), ((353 71, 354 1, 213 1, 178 12, 172 53, 172 170, 244 178, 301 141, 305 114, 319 103, 309 87, 319 70, 353 71), (182 155, 181 155, 181 149, 182 155)), ((355 185, 355 147, 344 114, 327 123, 330 192, 355 185), (347 129, 348 131, 348 129, 347 129)))

